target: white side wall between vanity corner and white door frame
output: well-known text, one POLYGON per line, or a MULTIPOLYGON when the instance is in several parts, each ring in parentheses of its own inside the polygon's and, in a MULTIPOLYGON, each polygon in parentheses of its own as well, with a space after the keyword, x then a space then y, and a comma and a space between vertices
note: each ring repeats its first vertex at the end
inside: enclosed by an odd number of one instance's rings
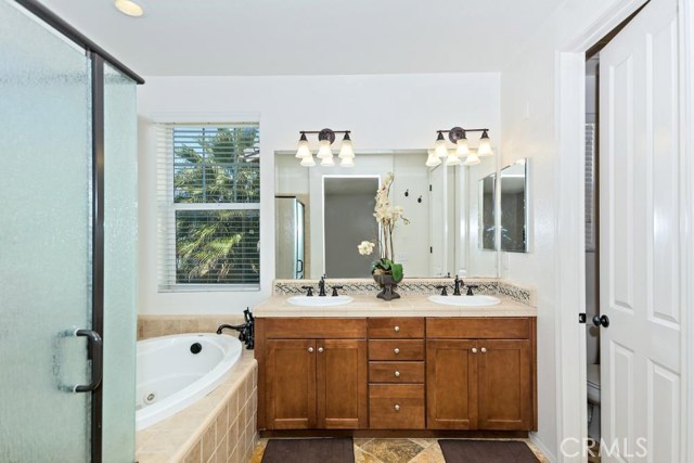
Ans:
MULTIPOLYGON (((530 227, 528 254, 503 253, 501 275, 538 290, 537 438, 557 458, 556 403, 556 185, 557 57, 618 0, 568 0, 542 27, 534 30, 517 57, 502 69, 502 160, 509 165, 529 157, 530 227)), ((576 172, 582 175, 582 172, 576 172)), ((578 270, 578 269, 577 269, 578 270)), ((567 385, 568 387, 568 385, 567 385)), ((562 461, 562 460, 560 460, 562 461)))

